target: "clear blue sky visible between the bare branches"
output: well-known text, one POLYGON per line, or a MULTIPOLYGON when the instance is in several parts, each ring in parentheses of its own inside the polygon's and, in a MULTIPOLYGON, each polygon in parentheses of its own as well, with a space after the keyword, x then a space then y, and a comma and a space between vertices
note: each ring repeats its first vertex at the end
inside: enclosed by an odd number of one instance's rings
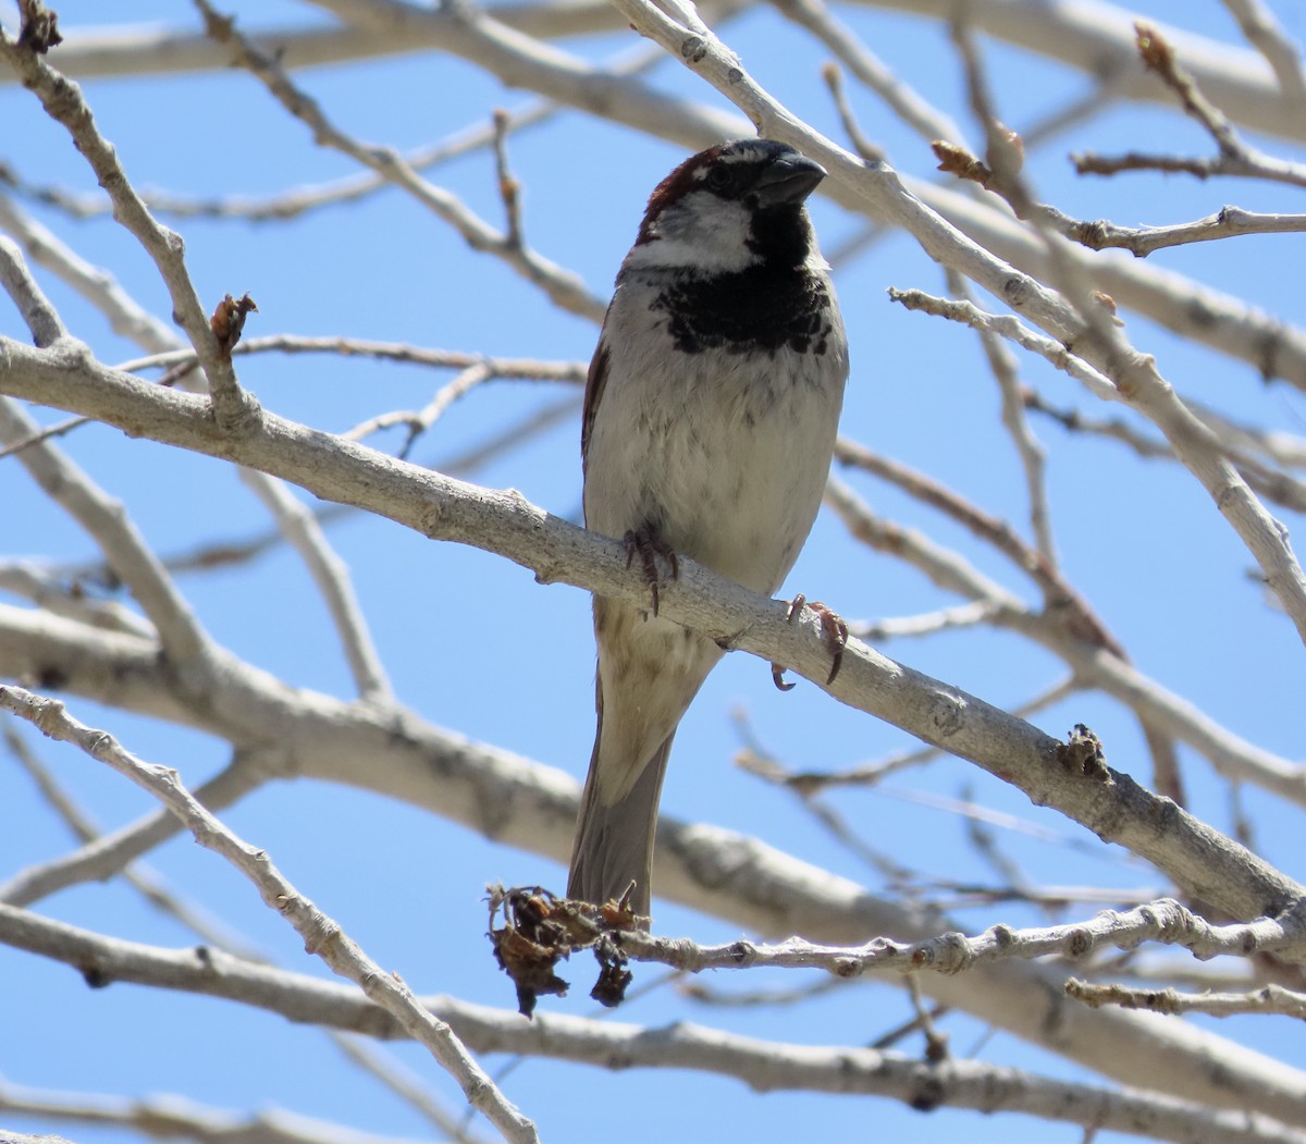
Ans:
MULTIPOLYGON (((1218 4, 1140 7, 1160 20, 1238 42, 1218 4)), ((323 18, 311 5, 231 8, 251 27, 323 18)), ((1276 8, 1299 39, 1306 37, 1294 5, 1276 8)), ((106 20, 104 8, 86 0, 57 9, 72 33, 106 20)), ((905 80, 970 127, 957 67, 939 29, 871 9, 841 14, 905 80)), ((197 26, 191 5, 179 0, 136 4, 132 18, 197 26)), ((7 29, 14 26, 12 5, 0 5, 0 20, 7 29)), ((819 129, 842 138, 819 78, 825 59, 819 46, 786 29, 771 10, 742 17, 724 30, 724 38, 743 55, 759 82, 819 129)), ((631 48, 632 40, 613 34, 568 47, 606 59, 631 48)), ((57 65, 57 54, 51 59, 57 65)), ((1016 128, 1085 90, 1083 78, 999 44, 987 47, 987 60, 1000 111, 1016 128)), ((722 106, 674 61, 660 64, 652 74, 666 90, 722 106)), ((532 99, 502 89, 462 61, 436 55, 317 69, 302 82, 341 127, 400 148, 478 123, 495 106, 512 108, 532 99)), ((354 171, 349 159, 316 148, 306 129, 244 73, 90 81, 85 90, 101 129, 140 188, 257 196, 354 171)), ((917 175, 931 171, 925 142, 900 127, 874 97, 853 89, 853 101, 863 131, 887 149, 892 163, 917 175)), ((7 125, 0 161, 24 178, 94 189, 80 155, 29 93, 13 85, 0 87, 0 123, 7 125)), ((1292 154, 1286 145, 1272 145, 1292 154)), ((1208 150, 1202 133, 1177 114, 1128 108, 1109 112, 1032 154, 1029 174, 1040 193, 1068 213, 1119 223, 1196 218, 1229 201, 1251 209, 1296 209, 1293 188, 1148 175, 1077 179, 1066 161, 1068 150, 1148 148, 1208 150)), ((511 154, 525 185, 528 240, 599 294, 609 289, 633 238, 648 191, 683 157, 675 146, 636 138, 577 112, 560 112, 515 136, 511 154)), ((432 175, 498 222, 494 178, 486 151, 432 175)), ((57 212, 25 206, 84 257, 111 268, 140 302, 167 313, 153 268, 107 218, 69 222, 57 212)), ((818 202, 814 213, 827 249, 837 248, 862 225, 829 202, 818 202)), ((593 349, 590 323, 559 312, 492 260, 469 256, 461 238, 398 191, 287 223, 168 221, 185 236, 191 273, 206 302, 225 293, 255 296, 259 313, 251 317, 249 336, 349 334, 568 360, 585 360, 593 349)), ((1299 235, 1247 238, 1165 252, 1155 261, 1297 321, 1306 264, 1301 243, 1299 235)), ((51 276, 40 281, 73 332, 103 360, 137 355, 51 276)), ((837 283, 854 363, 845 434, 929 471, 1024 528, 1019 458, 998 427, 998 389, 974 337, 936 319, 906 313, 887 299, 888 286, 942 293, 939 269, 899 234, 841 265, 837 283)), ((990 303, 981 299, 981 304, 990 303)), ((1138 316, 1126 319, 1135 345, 1157 355, 1165 376, 1185 396, 1211 401, 1246 421, 1301 432, 1302 401, 1286 385, 1264 385, 1243 363, 1186 345, 1138 316)), ((25 334, 12 308, 0 308, 0 330, 25 334)), ((1040 362, 1021 358, 1020 366, 1024 380, 1055 404, 1097 415, 1122 413, 1118 406, 1101 407, 1040 362)), ((379 411, 421 405, 448 380, 448 375, 415 367, 326 357, 244 359, 240 373, 269 409, 330 431, 345 431, 379 411)), ((454 406, 414 457, 436 464, 491 436, 504 419, 558 398, 555 387, 538 383, 485 387, 454 406)), ((1232 730, 1294 757, 1299 751, 1301 644, 1247 577, 1252 560, 1207 494, 1177 466, 1140 461, 1117 445, 1071 436, 1047 423, 1036 422, 1036 431, 1050 453, 1054 526, 1071 582, 1143 671, 1232 730)), ((374 444, 397 448, 398 439, 377 437, 374 444)), ((259 504, 219 462, 127 440, 99 427, 72 435, 67 448, 127 505, 162 554, 268 526, 259 504)), ((474 479, 518 488, 552 512, 577 517, 576 422, 498 460, 474 479)), ((1034 598, 956 525, 884 485, 849 479, 876 511, 957 546, 1024 598, 1034 598)), ((94 559, 90 542, 34 494, 13 460, 0 461, 0 499, 7 505, 0 554, 71 563, 94 559)), ((499 558, 432 545, 388 521, 355 515, 333 525, 329 534, 350 564, 404 703, 435 723, 582 777, 593 734, 593 648, 589 601, 582 593, 541 588, 528 572, 499 558)), ((191 575, 180 582, 213 635, 236 654, 296 686, 351 693, 321 603, 303 565, 285 547, 247 567, 191 575)), ((866 552, 829 513, 818 522, 786 590, 831 602, 849 619, 908 615, 957 602, 912 568, 866 552)), ((999 705, 1019 704, 1063 674, 1049 654, 1011 636, 955 633, 893 643, 884 650, 999 705)), ((71 700, 71 709, 82 721, 111 730, 137 755, 178 767, 192 787, 226 761, 225 746, 197 733, 82 699, 71 700)), ((801 683, 780 695, 765 665, 730 656, 682 726, 663 808, 678 818, 757 833, 803 859, 884 889, 880 871, 832 841, 791 798, 731 765, 742 744, 735 713, 743 713, 751 734, 795 769, 845 768, 910 746, 900 731, 833 704, 815 687, 801 683)), ((1136 722, 1107 699, 1077 695, 1034 721, 1057 735, 1075 722, 1091 725, 1106 743, 1113 765, 1148 781, 1149 763, 1136 722)), ((106 827, 150 808, 141 793, 99 764, 71 748, 27 738, 106 827)), ((1190 752, 1183 752, 1183 760, 1191 808, 1217 828, 1232 829, 1228 785, 1212 776, 1204 760, 1190 752)), ((1242 794, 1259 853, 1289 874, 1298 871, 1299 811, 1255 790, 1242 794)), ((901 866, 934 878, 998 884, 999 876, 968 845, 964 820, 922 804, 922 799, 957 797, 973 797, 1055 834, 1059 841, 999 832, 1003 851, 1037 884, 1165 889, 1164 879, 1143 863, 1121 850, 1085 848, 1094 841, 1085 831, 1030 807, 1019 791, 960 760, 909 771, 882 789, 841 793, 838 806, 874 848, 901 866)), ((300 891, 419 993, 453 993, 511 1007, 509 983, 494 968, 483 938, 483 887, 503 880, 560 889, 564 882, 556 865, 511 844, 490 844, 448 821, 357 790, 282 782, 259 791, 225 819, 248 841, 266 848, 300 891)), ((0 765, 0 878, 68 846, 26 777, 0 765)), ((182 840, 150 855, 150 862, 281 964, 326 973, 304 957, 295 935, 214 855, 182 840)), ((80 887, 39 908, 133 940, 162 945, 192 940, 120 883, 80 887)), ((1075 906, 1062 919, 1096 909, 1075 906)), ((978 931, 996 921, 1038 923, 1042 915, 1010 905, 956 909, 953 918, 968 931, 978 931)), ((670 902, 657 910, 657 922, 665 934, 704 942, 737 936, 729 926, 670 902)), ((653 968, 639 972, 641 982, 658 976, 653 968)), ((572 979, 579 986, 585 968, 573 964, 572 979)), ((716 974, 707 983, 727 993, 791 985, 793 978, 716 974)), ((546 1007, 592 1011, 580 987, 567 1000, 549 1000, 546 1007)), ((90 991, 69 969, 7 949, 0 949, 0 1008, 7 1030, 0 1075, 16 1084, 127 1097, 182 1093, 235 1111, 276 1106, 374 1132, 427 1135, 410 1109, 343 1064, 319 1033, 255 1009, 125 985, 90 991)), ((901 990, 871 983, 803 1007, 729 1011, 704 1008, 662 987, 623 1008, 616 1019, 653 1025, 720 1023, 750 1036, 857 1045, 909 1016, 901 990)), ((1306 1067, 1306 1054, 1285 1043, 1276 1021, 1242 1017, 1211 1026, 1306 1067)), ((946 1028, 959 1055, 978 1049, 983 1060, 1085 1079, 1010 1036, 987 1038, 966 1017, 949 1017, 946 1028)), ((405 1045, 390 1047, 445 1100, 457 1100, 453 1085, 424 1054, 405 1045)), ((919 1045, 908 1041, 901 1047, 918 1051, 919 1045)), ((490 1058, 486 1063, 498 1071, 507 1062, 490 1058)), ((938 1139, 944 1127, 976 1141, 1074 1141, 1081 1135, 1074 1126, 1047 1128, 1019 1117, 948 1111, 922 1118, 888 1101, 759 1096, 735 1081, 687 1072, 610 1073, 547 1060, 512 1068, 504 1089, 537 1119, 543 1139, 579 1144, 607 1135, 597 1130, 598 1109, 618 1110, 622 1135, 633 1141, 673 1135, 697 1139, 705 1124, 718 1135, 729 1124, 722 1139, 757 1140, 806 1137, 815 1124, 828 1140, 854 1139, 871 1130, 905 1144, 938 1139)), ((14 1127, 59 1131, 77 1140, 125 1139, 61 1122, 16 1122, 14 1127)))

